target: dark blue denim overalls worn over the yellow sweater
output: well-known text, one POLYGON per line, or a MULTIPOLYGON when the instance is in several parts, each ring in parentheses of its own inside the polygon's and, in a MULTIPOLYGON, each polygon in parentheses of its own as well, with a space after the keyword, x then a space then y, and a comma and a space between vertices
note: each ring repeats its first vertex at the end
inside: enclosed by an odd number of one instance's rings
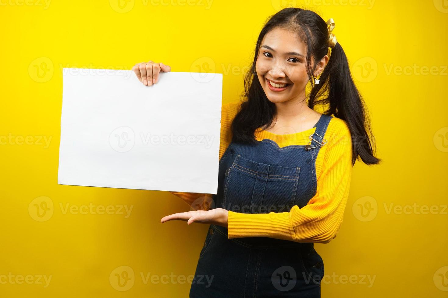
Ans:
MULTIPOLYGON (((306 206, 316 193, 316 157, 326 142, 320 136, 331 118, 322 114, 309 145, 280 148, 270 139, 254 145, 231 142, 219 163, 215 208, 269 213, 306 206)), ((190 298, 320 297, 323 274, 323 260, 314 243, 269 237, 228 239, 227 228, 212 224, 199 254, 190 298)))

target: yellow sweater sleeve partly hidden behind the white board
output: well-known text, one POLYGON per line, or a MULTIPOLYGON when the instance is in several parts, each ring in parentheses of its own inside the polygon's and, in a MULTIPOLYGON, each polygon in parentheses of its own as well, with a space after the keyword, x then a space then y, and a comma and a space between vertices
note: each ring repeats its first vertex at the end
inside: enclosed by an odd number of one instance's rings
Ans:
MULTIPOLYGON (((221 106, 220 159, 232 140, 230 126, 239 106, 240 104, 238 102, 230 102, 221 106)), ((212 195, 209 193, 185 193, 175 191, 170 191, 170 193, 185 201, 185 203, 191 207, 191 210, 209 210, 213 201, 212 195)))

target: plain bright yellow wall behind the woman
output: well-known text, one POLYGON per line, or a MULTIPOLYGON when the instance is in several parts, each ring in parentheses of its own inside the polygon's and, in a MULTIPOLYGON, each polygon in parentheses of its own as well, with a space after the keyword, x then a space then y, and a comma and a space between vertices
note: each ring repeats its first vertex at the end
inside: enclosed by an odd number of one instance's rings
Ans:
MULTIPOLYGON (((152 59, 220 72, 223 102, 237 101, 263 22, 285 3, 0 0, 0 297, 188 296, 208 225, 161 224, 189 210, 180 198, 57 184, 62 67, 130 70, 152 59), (42 202, 47 218, 36 214, 42 202), (133 209, 125 218, 67 204, 133 209)), ((338 237, 315 245, 322 297, 447 297, 447 1, 289 3, 334 19, 383 159, 357 162, 338 237)))

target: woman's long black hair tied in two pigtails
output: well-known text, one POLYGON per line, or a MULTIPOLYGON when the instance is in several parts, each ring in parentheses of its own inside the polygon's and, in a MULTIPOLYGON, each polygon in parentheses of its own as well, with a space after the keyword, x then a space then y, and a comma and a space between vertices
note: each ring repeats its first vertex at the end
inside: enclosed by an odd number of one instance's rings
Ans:
MULTIPOLYGON (((241 109, 232 122, 233 140, 240 143, 254 143, 257 128, 269 127, 276 115, 276 105, 269 101, 256 75, 255 63, 264 36, 275 28, 296 29, 300 38, 306 42, 306 72, 313 77, 317 62, 329 53, 329 33, 327 23, 317 13, 302 8, 284 8, 271 16, 263 26, 254 51, 252 67, 244 78, 245 91, 241 109), (314 65, 311 65, 311 56, 314 65)), ((322 104, 324 114, 334 115, 345 120, 352 136, 353 158, 358 156, 365 164, 379 164, 381 159, 374 154, 374 139, 370 130, 369 115, 365 103, 356 88, 347 57, 339 42, 331 50, 330 59, 320 74, 319 84, 310 80, 311 92, 306 96, 308 106, 322 104)))

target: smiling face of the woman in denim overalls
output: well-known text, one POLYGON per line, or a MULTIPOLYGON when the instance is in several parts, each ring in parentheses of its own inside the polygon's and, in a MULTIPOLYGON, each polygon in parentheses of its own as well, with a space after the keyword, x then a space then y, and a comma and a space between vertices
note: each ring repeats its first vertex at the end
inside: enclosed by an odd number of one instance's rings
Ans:
POLYGON ((309 81, 306 52, 306 44, 287 29, 272 29, 264 36, 255 69, 269 101, 280 103, 305 98, 309 81))

